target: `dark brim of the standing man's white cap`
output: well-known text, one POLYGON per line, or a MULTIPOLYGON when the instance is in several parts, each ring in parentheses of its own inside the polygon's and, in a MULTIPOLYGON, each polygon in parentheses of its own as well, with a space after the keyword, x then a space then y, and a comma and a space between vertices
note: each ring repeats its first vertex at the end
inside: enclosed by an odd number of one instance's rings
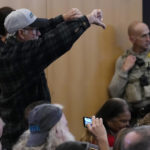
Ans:
POLYGON ((37 18, 32 24, 30 24, 30 27, 36 27, 36 28, 44 28, 48 26, 49 20, 45 18, 37 18))

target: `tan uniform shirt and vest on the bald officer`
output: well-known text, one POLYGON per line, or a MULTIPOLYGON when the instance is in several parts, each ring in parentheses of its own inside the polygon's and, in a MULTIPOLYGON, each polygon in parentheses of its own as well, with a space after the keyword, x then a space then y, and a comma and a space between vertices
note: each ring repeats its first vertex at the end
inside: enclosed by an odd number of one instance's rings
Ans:
MULTIPOLYGON (((132 48, 126 50, 125 53, 117 59, 115 66, 115 74, 109 85, 109 92, 111 97, 122 97, 128 102, 138 102, 141 100, 147 100, 146 91, 143 86, 141 86, 140 78, 142 75, 149 76, 149 64, 150 64, 150 49, 142 52, 141 54, 135 53, 132 48), (143 65, 139 66, 137 61, 134 67, 128 71, 124 72, 122 70, 122 65, 127 56, 136 56, 136 59, 141 59, 143 65)), ((149 93, 149 90, 148 90, 149 93)), ((149 100, 149 98, 148 98, 149 100)))

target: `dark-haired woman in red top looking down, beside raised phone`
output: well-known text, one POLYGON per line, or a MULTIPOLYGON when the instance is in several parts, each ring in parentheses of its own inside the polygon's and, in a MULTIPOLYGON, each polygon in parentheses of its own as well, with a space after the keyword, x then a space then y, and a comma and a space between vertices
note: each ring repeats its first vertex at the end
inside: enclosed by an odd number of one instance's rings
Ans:
MULTIPOLYGON (((110 148, 113 147, 118 132, 123 128, 129 127, 131 119, 127 102, 120 98, 107 100, 96 113, 96 117, 103 118, 110 148)), ((96 144, 95 137, 89 133, 88 130, 81 138, 81 141, 88 141, 96 144)))

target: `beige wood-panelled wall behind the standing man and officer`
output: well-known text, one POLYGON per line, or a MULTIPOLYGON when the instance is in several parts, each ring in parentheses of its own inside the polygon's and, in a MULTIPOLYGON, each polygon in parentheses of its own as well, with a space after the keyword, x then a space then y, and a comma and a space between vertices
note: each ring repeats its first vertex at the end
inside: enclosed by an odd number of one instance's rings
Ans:
POLYGON ((79 139, 82 116, 91 116, 107 100, 116 58, 130 47, 127 26, 142 19, 141 0, 0 0, 0 6, 26 7, 40 17, 55 17, 72 7, 87 14, 103 11, 106 30, 92 25, 72 49, 46 70, 52 102, 65 106, 69 127, 79 139))

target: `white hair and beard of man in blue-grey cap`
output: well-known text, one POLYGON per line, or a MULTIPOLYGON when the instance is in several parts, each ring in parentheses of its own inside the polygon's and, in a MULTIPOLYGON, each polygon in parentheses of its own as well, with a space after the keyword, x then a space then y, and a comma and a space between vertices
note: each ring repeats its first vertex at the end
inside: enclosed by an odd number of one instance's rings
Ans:
MULTIPOLYGON (((55 106, 59 107, 60 109, 63 109, 61 105, 54 104, 55 106)), ((63 122, 61 119, 57 122, 57 124, 49 131, 49 135, 47 137, 46 143, 44 143, 41 146, 37 147, 27 147, 26 143, 29 138, 30 131, 25 131, 19 141, 16 143, 16 145, 13 146, 13 150, 55 150, 56 147, 65 142, 65 141, 74 141, 75 138, 71 134, 70 131, 66 132, 64 131, 63 122), (57 132, 61 132, 63 135, 63 138, 57 136, 57 132)))

